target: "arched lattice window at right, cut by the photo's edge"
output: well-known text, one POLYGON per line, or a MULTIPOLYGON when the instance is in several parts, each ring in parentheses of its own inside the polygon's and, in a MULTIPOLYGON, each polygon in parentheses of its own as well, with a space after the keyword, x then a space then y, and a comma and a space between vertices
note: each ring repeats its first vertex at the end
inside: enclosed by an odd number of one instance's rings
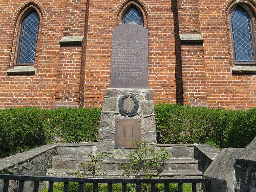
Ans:
POLYGON ((255 63, 251 17, 240 6, 230 13, 234 63, 255 63))

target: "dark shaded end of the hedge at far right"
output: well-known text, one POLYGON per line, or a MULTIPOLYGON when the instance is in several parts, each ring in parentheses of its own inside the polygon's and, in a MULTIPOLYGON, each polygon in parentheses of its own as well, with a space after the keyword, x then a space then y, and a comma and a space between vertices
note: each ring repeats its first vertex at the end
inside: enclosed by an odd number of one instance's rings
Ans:
POLYGON ((256 108, 247 111, 211 110, 216 143, 223 147, 246 147, 256 136, 256 108))

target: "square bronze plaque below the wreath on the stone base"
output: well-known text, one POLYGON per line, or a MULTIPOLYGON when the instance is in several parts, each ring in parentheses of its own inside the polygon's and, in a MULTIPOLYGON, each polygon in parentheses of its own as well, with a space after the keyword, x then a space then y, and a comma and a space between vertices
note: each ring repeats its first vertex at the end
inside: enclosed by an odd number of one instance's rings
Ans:
POLYGON ((115 148, 133 148, 132 141, 140 141, 140 119, 115 120, 115 148))

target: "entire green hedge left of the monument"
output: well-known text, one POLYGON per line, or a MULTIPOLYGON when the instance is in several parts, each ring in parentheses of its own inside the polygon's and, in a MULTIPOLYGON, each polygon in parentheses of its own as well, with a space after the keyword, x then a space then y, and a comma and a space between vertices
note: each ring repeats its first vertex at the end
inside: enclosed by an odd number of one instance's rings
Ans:
POLYGON ((98 109, 0 110, 0 157, 52 143, 55 139, 96 141, 99 117, 98 109))

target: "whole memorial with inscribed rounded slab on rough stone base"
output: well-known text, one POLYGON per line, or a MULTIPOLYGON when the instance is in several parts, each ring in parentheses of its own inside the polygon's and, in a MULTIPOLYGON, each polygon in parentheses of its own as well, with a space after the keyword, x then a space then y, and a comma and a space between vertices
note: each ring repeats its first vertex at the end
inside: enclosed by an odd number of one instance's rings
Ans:
POLYGON ((145 28, 123 24, 113 31, 111 81, 105 91, 99 139, 115 139, 115 148, 131 148, 132 140, 156 143, 147 57, 145 28))

